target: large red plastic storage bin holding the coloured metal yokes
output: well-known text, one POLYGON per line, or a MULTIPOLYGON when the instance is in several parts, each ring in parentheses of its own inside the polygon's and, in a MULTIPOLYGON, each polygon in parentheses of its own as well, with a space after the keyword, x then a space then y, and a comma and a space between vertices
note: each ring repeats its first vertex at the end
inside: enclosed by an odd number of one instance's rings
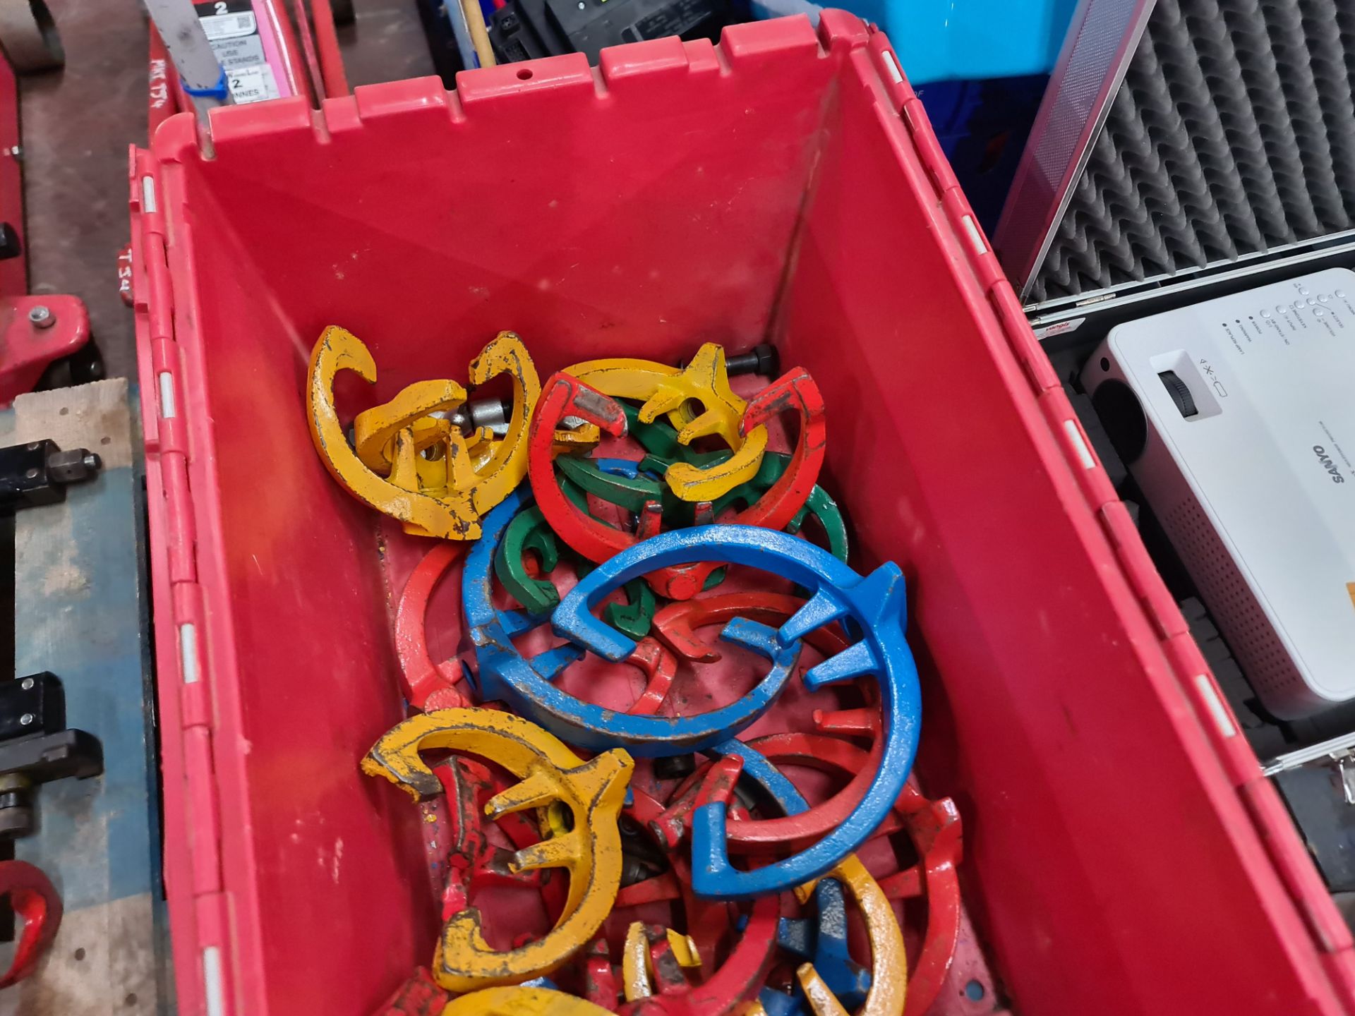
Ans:
POLYGON ((1012 1007, 1355 1011, 1350 933, 883 35, 827 12, 211 127, 131 167, 182 1013, 367 1016, 432 951, 416 810, 358 774, 401 718, 411 551, 310 444, 329 324, 381 368, 363 404, 501 328, 542 377, 776 343, 828 400, 856 566, 908 574, 917 771, 1012 1007))

